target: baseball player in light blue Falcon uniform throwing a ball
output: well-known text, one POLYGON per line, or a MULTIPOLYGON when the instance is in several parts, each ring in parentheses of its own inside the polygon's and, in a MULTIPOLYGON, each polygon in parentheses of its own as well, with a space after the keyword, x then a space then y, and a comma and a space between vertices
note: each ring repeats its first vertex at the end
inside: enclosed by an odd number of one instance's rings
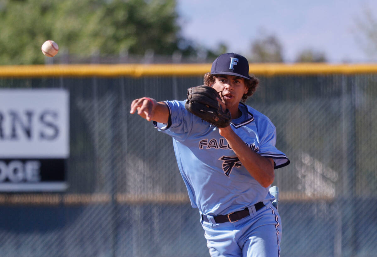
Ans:
POLYGON ((216 125, 216 117, 205 121, 200 113, 214 113, 206 110, 208 105, 199 113, 189 111, 189 98, 197 97, 195 87, 186 101, 144 97, 131 104, 130 113, 137 111, 172 136, 179 171, 192 207, 199 209, 211 257, 280 256, 281 222, 269 188, 274 169, 290 161, 275 147, 270 119, 243 103, 258 84, 249 76, 247 59, 227 53, 213 62, 204 85, 218 92, 219 112, 230 114, 230 122, 216 125))

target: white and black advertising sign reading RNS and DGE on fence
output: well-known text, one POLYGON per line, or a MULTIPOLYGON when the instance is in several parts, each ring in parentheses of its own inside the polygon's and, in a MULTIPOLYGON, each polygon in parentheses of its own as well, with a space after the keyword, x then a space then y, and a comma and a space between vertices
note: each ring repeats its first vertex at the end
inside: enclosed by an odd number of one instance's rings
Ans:
POLYGON ((69 92, 0 89, 0 191, 64 191, 69 92))

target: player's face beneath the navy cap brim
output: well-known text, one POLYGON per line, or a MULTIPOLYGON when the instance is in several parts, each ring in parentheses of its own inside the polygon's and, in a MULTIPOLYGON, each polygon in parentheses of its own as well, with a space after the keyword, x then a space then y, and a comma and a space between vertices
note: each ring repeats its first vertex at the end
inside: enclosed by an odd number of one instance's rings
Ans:
POLYGON ((219 92, 229 110, 238 110, 239 101, 248 91, 244 78, 232 75, 217 75, 213 88, 219 92))

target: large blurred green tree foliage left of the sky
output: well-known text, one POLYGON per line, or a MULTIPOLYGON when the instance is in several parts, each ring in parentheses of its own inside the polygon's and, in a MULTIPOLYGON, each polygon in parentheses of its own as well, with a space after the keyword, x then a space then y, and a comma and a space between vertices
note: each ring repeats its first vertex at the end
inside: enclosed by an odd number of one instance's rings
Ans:
POLYGON ((0 64, 44 63, 46 40, 79 57, 194 55, 177 18, 175 0, 0 0, 0 64))

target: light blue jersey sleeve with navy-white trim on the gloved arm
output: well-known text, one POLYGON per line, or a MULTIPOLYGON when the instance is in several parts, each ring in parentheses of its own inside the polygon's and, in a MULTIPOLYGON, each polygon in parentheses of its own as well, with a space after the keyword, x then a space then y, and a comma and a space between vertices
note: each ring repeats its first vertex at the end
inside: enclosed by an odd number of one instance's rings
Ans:
POLYGON ((261 135, 259 135, 259 155, 274 160, 274 169, 282 168, 290 164, 287 156, 275 147, 276 144, 276 128, 270 120, 263 122, 261 135))

